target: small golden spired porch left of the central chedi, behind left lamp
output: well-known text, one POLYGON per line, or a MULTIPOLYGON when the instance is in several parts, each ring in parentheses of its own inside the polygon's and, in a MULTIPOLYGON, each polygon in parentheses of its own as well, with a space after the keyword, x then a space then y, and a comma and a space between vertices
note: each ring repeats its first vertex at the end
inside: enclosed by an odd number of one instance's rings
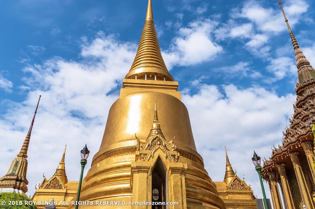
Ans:
POLYGON ((54 175, 48 180, 43 175, 44 178, 43 182, 38 184, 38 189, 35 186, 36 191, 31 199, 32 201, 36 201, 36 206, 38 209, 42 209, 45 207, 45 205, 43 204, 39 205, 39 201, 51 201, 52 198, 54 201, 57 201, 58 209, 68 208, 66 202, 67 201, 70 202, 72 198, 77 195, 77 188, 79 182, 68 181, 66 175, 65 168, 66 147, 54 175), (65 202, 65 204, 60 204, 60 201, 65 202))

